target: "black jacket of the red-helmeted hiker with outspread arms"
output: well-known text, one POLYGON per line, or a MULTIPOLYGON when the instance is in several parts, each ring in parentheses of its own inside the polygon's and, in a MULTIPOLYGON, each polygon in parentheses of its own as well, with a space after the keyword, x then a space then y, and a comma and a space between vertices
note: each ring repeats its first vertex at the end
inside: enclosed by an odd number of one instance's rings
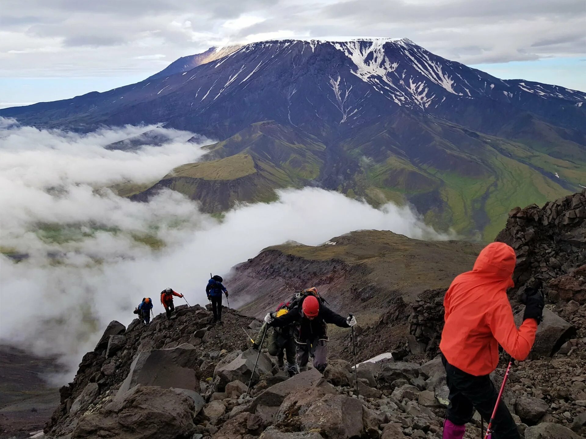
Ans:
POLYGON ((297 335, 296 338, 301 342, 326 337, 326 323, 335 324, 340 328, 350 327, 350 325, 346 323, 346 317, 334 313, 325 305, 319 306, 318 317, 314 318, 314 320, 309 320, 309 318, 304 317, 301 315, 300 308, 295 308, 287 314, 281 315, 281 317, 276 317, 271 322, 271 326, 284 327, 292 323, 297 323, 297 331, 295 331, 297 335))

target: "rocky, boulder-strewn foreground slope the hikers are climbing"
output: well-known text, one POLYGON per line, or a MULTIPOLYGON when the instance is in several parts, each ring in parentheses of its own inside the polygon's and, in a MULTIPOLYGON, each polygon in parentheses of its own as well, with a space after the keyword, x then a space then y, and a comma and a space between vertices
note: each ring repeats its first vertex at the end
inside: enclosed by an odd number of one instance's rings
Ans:
MULTIPOLYGON (((510 296, 519 320, 528 284, 540 280, 547 294, 532 354, 514 363, 504 396, 525 439, 586 437, 584 209, 586 190, 544 208, 516 209, 499 235, 519 255, 510 296)), ((441 438, 448 404, 438 357, 444 293, 395 297, 372 321, 356 312, 363 325, 355 327, 357 382, 349 330, 336 328, 323 375, 309 369, 288 378, 266 349, 253 375, 250 337, 261 321, 237 310, 224 308, 223 325, 213 325, 199 305, 178 306, 176 318, 159 314, 148 326, 113 321, 74 381, 60 389, 45 437, 441 438), (389 351, 392 358, 363 362, 389 351)), ((502 354, 496 386, 506 363, 502 354)), ((465 437, 481 437, 480 427, 476 414, 465 437)))

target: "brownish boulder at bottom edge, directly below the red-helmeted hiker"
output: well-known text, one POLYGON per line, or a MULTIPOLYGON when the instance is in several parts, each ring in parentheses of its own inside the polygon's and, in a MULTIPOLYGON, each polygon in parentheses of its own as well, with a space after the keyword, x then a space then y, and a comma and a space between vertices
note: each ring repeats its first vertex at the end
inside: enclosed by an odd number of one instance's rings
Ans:
POLYGON ((362 403, 345 395, 325 395, 301 417, 301 427, 315 429, 328 439, 360 437, 364 428, 362 403))

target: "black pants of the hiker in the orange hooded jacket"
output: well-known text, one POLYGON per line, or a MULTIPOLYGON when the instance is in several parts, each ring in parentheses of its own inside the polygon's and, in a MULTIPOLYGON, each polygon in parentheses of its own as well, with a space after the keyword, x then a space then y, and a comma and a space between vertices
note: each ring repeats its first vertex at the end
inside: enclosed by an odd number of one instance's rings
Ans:
MULTIPOLYGON (((489 375, 474 376, 452 366, 441 356, 449 389, 447 418, 463 426, 472 420, 474 409, 486 423, 490 421, 499 392, 489 375)), ((492 439, 520 439, 519 431, 505 402, 501 399, 492 424, 492 439)))

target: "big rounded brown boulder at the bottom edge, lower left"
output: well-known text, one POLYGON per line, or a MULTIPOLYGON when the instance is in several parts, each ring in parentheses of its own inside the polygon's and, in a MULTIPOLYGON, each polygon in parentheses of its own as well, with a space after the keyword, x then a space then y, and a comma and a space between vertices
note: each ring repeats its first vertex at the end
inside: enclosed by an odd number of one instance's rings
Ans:
POLYGON ((124 397, 81 417, 71 439, 176 439, 191 437, 193 400, 161 387, 137 385, 124 397))

